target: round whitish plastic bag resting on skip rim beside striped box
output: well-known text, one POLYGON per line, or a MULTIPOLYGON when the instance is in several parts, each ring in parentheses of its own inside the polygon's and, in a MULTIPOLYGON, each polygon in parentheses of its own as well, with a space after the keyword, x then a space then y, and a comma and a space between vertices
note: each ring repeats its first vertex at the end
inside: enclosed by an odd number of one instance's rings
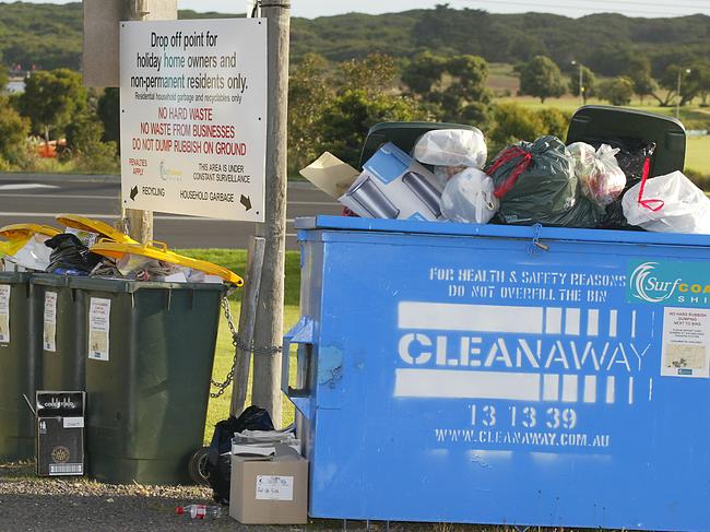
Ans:
POLYGON ((498 211, 493 179, 476 168, 453 176, 441 194, 441 213, 451 222, 485 224, 498 211))

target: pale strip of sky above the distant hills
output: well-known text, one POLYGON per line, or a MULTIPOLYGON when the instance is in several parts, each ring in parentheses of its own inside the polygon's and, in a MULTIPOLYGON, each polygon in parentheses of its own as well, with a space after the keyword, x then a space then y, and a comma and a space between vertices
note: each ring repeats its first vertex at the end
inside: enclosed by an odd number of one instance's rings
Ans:
MULTIPOLYGON (((72 0, 24 0, 32 3, 69 3, 72 0)), ((75 0, 74 0, 75 1, 75 0)), ((334 14, 392 13, 411 9, 430 9, 437 3, 452 8, 484 9, 494 13, 542 11, 566 16, 615 12, 628 16, 710 15, 710 0, 291 0, 292 15, 313 19, 334 14)), ((244 13, 247 0, 178 0, 179 9, 199 12, 244 13)))

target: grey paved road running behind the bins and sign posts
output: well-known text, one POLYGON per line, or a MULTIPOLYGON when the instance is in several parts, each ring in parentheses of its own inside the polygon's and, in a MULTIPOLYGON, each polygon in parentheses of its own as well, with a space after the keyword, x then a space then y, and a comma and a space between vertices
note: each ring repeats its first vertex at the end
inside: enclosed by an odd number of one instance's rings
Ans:
MULTIPOLYGON (((119 213, 116 176, 0 174, 0 226, 35 222, 57 225, 59 213, 82 214, 114 224, 119 213)), ((288 187, 286 247, 297 249, 294 218, 339 214, 341 208, 308 182, 288 187)), ((246 248, 255 224, 155 213, 155 239, 171 248, 246 248)))

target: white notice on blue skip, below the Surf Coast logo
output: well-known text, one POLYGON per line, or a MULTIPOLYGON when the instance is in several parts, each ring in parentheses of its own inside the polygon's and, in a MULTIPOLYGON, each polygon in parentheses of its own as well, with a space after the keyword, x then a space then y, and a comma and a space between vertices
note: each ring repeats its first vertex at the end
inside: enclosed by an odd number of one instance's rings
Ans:
POLYGON ((666 307, 663 312, 661 375, 710 377, 710 311, 666 307))

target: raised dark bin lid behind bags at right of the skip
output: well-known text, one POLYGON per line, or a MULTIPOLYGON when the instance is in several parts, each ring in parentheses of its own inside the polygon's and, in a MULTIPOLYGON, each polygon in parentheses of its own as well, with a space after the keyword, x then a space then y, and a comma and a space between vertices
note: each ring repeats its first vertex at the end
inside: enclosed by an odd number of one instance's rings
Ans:
POLYGON ((636 109, 587 105, 572 116, 567 144, 604 140, 637 139, 655 143, 650 176, 683 172, 685 167, 685 128, 671 117, 636 109))

